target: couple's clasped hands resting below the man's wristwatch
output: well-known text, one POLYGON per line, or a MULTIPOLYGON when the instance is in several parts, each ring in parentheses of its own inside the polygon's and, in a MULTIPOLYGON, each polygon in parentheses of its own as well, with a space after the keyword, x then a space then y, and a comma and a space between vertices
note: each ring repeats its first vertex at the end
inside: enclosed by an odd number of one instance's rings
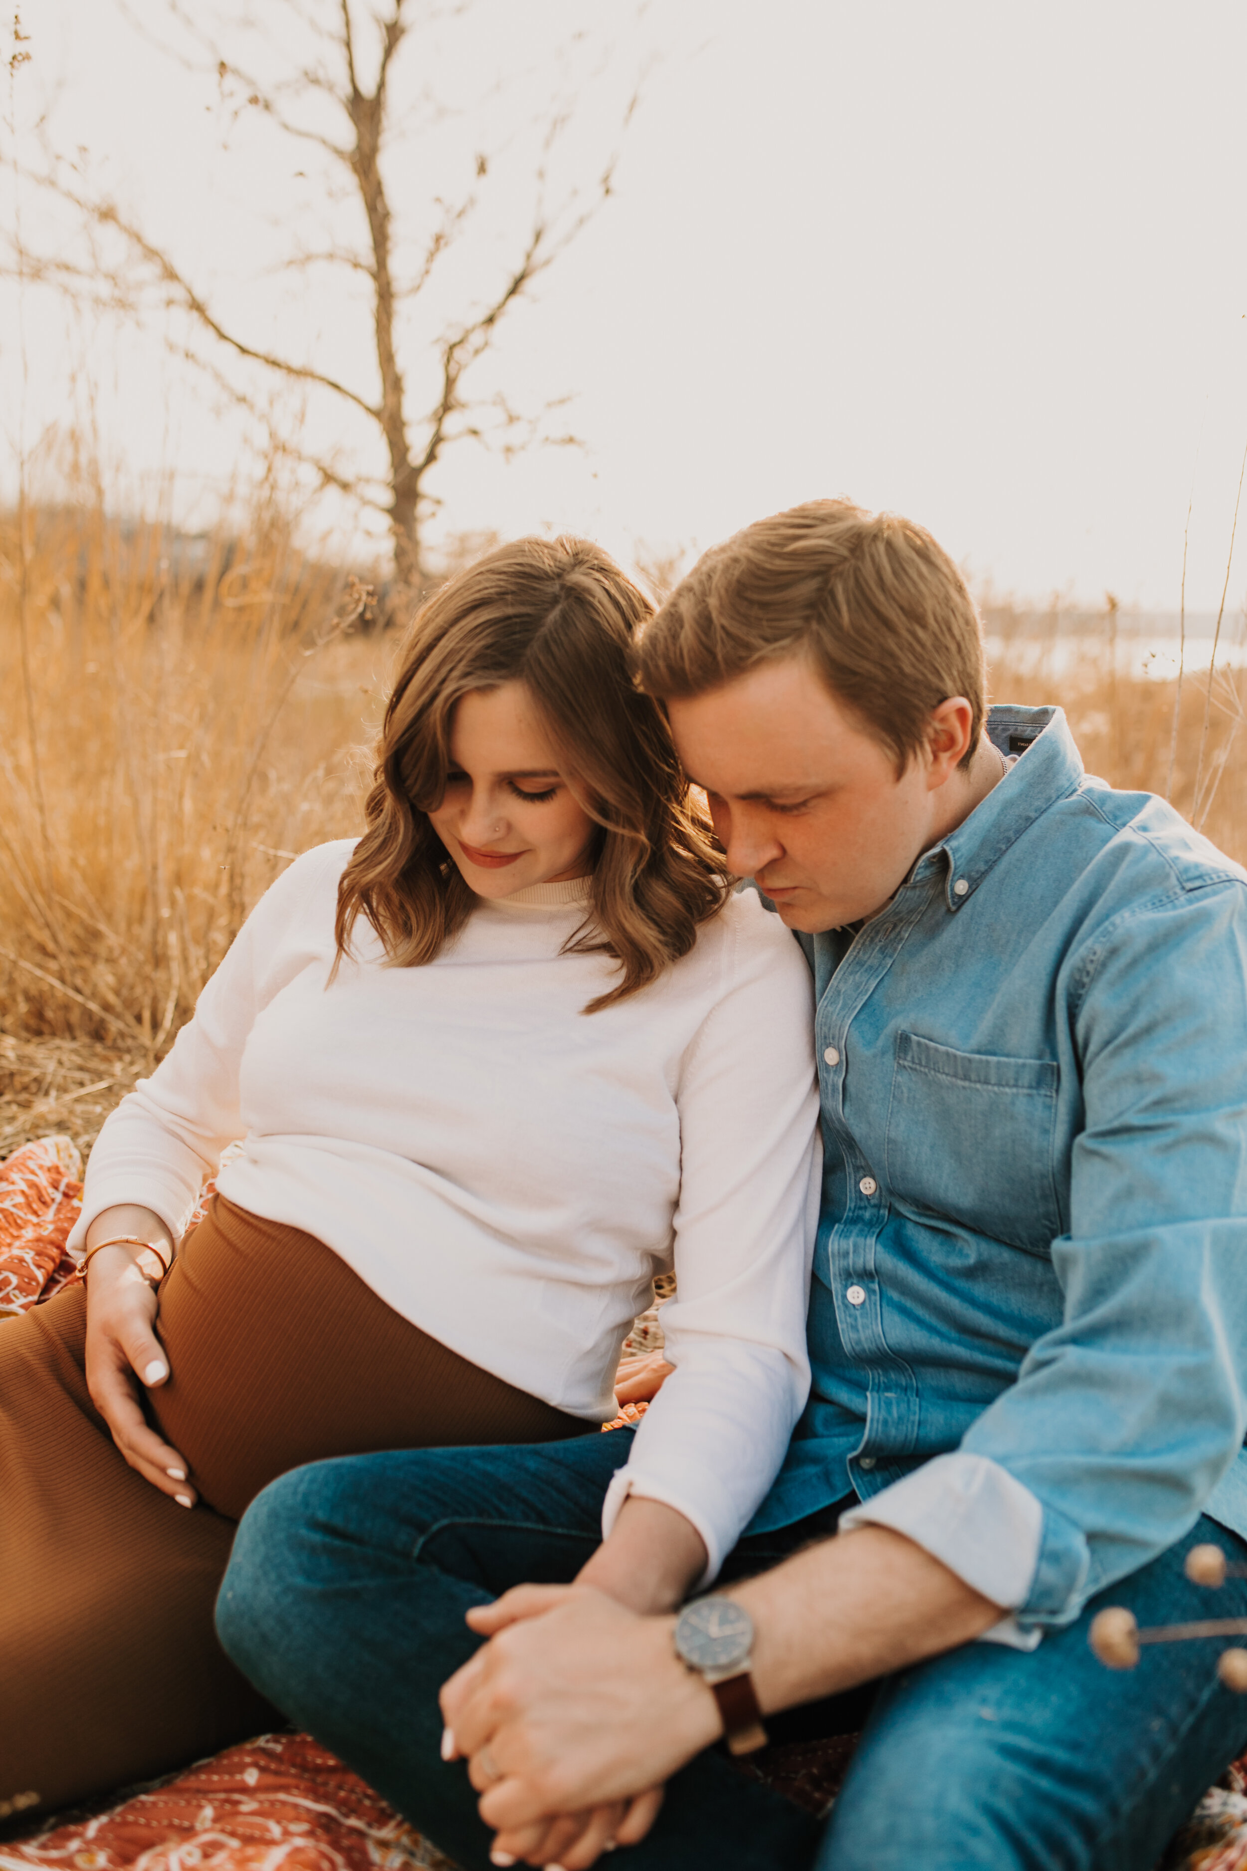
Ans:
POLYGON ((675 1656, 675 1620, 589 1585, 520 1587, 469 1620, 495 1635, 445 1684, 441 1712, 495 1850, 578 1871, 611 1835, 643 1837, 662 1783, 722 1733, 675 1656))

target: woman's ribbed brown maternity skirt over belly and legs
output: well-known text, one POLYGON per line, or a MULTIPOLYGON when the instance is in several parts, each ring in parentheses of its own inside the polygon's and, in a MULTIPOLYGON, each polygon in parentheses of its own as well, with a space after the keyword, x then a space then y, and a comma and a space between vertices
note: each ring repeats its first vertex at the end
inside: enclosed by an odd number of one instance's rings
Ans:
POLYGON ((542 1443, 587 1424, 456 1356, 329 1248, 217 1197, 161 1287, 153 1414, 187 1512, 125 1465, 84 1379, 80 1287, 0 1319, 0 1811, 144 1779, 273 1723, 213 1632, 234 1521, 303 1461, 542 1443))

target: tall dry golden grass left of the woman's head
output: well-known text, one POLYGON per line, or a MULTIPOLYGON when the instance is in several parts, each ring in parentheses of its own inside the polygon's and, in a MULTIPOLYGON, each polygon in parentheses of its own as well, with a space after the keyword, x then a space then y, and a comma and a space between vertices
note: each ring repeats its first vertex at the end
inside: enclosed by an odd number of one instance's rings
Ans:
POLYGON ((359 825, 389 645, 260 515, 170 563, 99 513, 0 535, 9 1035, 165 1050, 292 853, 359 825))

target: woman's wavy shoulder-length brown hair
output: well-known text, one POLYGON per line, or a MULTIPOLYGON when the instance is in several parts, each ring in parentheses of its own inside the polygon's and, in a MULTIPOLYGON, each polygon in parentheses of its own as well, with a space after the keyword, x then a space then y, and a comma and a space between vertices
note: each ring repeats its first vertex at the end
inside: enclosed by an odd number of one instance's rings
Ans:
MULTIPOLYGON (((522 681, 580 805, 600 827, 591 909, 565 952, 609 954, 638 994, 722 909, 724 859, 690 799, 658 705, 636 685, 652 604, 585 539, 518 539, 445 584, 417 614, 378 741, 368 829, 338 885, 338 960, 355 917, 389 965, 432 962, 479 898, 428 821, 445 795, 454 703, 522 681)), ((337 964, 335 964, 337 969, 337 964)))

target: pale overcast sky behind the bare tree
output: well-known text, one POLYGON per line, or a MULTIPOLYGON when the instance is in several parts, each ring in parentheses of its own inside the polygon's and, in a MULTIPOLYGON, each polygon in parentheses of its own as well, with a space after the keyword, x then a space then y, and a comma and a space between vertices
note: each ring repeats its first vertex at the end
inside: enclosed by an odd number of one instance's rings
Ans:
MULTIPOLYGON (((277 62, 284 0, 236 9, 275 30, 277 62)), ((159 0, 133 13, 165 17, 159 0)), ((372 391, 350 290, 258 279, 292 228, 350 230, 318 172, 297 176, 295 153, 234 122, 114 0, 24 0, 22 21, 19 138, 54 94, 58 146, 88 150, 249 337, 372 391)), ((559 423, 585 447, 503 466, 466 445, 437 481, 439 524, 694 554, 847 492, 922 520, 1000 589, 1176 608, 1193 498, 1187 602, 1215 608, 1247 443, 1241 0, 651 0, 636 21, 621 0, 477 0, 402 58, 402 101, 432 86, 451 114, 396 152, 396 210, 419 226, 475 148, 501 176, 451 294, 484 290, 527 225, 523 112, 580 94, 555 163, 570 185, 647 71, 611 202, 484 380, 525 408, 568 395, 559 423), (587 37, 559 64, 572 26, 587 37)), ((60 238, 37 200, 21 206, 32 245, 60 238)), ((176 473, 191 511, 228 481, 237 430, 155 327, 84 329, 30 288, 22 311, 24 389, 9 288, 9 483, 22 397, 30 438, 86 385, 135 490, 176 473)), ((323 410, 308 421, 327 445, 361 438, 323 410)), ((1232 604, 1245 569, 1247 537, 1232 604)))

